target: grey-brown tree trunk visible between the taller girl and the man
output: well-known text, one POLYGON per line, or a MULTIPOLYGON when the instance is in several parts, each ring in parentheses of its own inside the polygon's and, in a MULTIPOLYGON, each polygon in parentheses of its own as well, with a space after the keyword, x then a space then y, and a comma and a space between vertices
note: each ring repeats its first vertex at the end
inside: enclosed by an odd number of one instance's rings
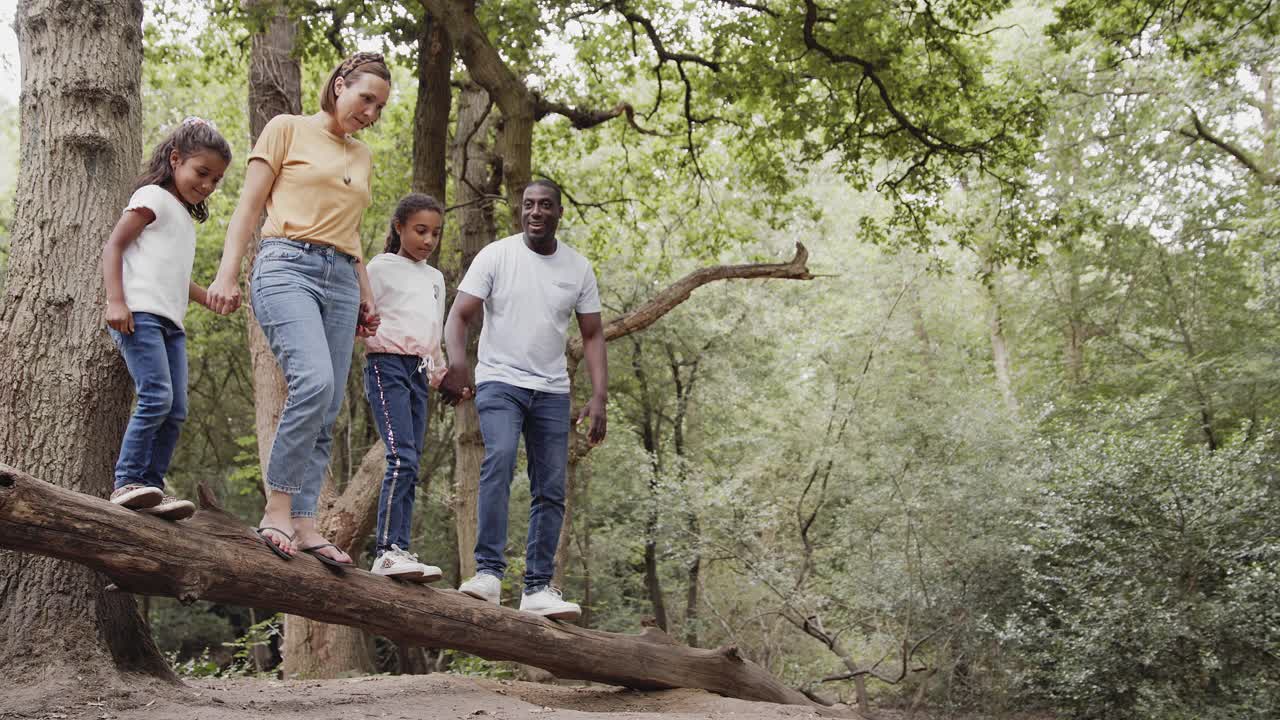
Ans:
MULTIPOLYGON (((457 173, 460 214, 458 240, 462 245, 462 266, 466 274, 471 260, 497 237, 493 196, 498 192, 494 156, 489 136, 493 132, 493 105, 489 94, 476 85, 467 85, 458 96, 458 127, 454 132, 453 172, 457 173)), ((476 345, 480 327, 468 333, 467 356, 475 372, 476 345)), ((453 523, 458 536, 458 575, 470 578, 476 571, 476 501, 480 492, 480 462, 484 461, 484 437, 475 402, 462 402, 453 415, 453 523)))

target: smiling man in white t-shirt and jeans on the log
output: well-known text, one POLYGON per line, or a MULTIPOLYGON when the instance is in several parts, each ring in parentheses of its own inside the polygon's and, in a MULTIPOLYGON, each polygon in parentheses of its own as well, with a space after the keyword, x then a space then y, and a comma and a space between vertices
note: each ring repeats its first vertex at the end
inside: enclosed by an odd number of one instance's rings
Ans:
POLYGON ((440 383, 447 397, 472 387, 467 328, 484 311, 476 364, 475 402, 484 436, 476 528, 476 574, 462 592, 498 602, 507 569, 507 501, 520 436, 529 456, 529 541, 525 592, 520 609, 575 620, 577 603, 550 585, 556 546, 564 521, 568 465, 570 396, 564 340, 571 315, 582 333, 591 401, 579 416, 590 418, 588 441, 604 439, 608 364, 600 323, 600 293, 591 263, 556 240, 564 208, 550 181, 525 188, 520 224, 525 232, 481 250, 462 283, 444 325, 449 372, 440 383))

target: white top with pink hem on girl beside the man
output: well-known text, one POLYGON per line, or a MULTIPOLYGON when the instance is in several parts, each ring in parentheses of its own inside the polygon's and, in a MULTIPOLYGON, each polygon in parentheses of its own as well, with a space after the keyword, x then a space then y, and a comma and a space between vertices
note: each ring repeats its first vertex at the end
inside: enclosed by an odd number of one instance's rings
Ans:
POLYGON ((444 334, 444 275, 422 260, 383 252, 369 261, 369 284, 381 323, 365 340, 370 352, 417 355, 433 378, 448 368, 440 340, 444 334))

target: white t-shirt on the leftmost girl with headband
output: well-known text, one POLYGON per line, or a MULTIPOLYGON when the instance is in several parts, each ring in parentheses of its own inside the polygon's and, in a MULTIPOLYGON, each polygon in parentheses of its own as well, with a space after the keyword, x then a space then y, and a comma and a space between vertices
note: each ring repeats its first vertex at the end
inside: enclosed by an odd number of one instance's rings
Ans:
POLYGON ((152 313, 182 328, 187 316, 196 223, 178 197, 159 184, 133 192, 124 211, 146 208, 156 219, 124 249, 124 302, 131 313, 152 313))

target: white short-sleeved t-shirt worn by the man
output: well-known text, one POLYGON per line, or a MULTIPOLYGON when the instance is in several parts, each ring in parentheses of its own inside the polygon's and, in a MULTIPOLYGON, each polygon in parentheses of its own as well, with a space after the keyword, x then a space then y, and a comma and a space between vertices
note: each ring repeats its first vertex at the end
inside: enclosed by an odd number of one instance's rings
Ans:
POLYGON ((513 234, 475 256, 458 291, 484 300, 477 383, 568 392, 570 316, 600 311, 590 260, 559 241, 556 252, 539 255, 525 245, 524 233, 513 234))

